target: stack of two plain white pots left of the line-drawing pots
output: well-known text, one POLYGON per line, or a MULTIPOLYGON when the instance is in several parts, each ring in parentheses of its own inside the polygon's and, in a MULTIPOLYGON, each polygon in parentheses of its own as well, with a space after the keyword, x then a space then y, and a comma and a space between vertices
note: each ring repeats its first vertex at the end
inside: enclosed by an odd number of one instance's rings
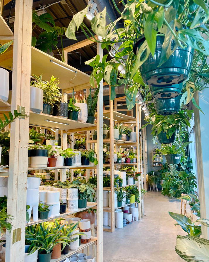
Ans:
POLYGON ((47 191, 47 205, 49 206, 49 217, 59 216, 59 191, 47 191))

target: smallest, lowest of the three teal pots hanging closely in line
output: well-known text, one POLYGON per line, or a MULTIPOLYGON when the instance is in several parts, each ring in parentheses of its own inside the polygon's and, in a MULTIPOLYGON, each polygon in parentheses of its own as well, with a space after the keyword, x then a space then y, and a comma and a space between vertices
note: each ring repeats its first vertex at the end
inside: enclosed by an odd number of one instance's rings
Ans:
POLYGON ((180 109, 180 99, 181 95, 176 98, 169 98, 169 99, 157 99, 154 98, 154 105, 159 115, 172 115, 177 114, 180 109))

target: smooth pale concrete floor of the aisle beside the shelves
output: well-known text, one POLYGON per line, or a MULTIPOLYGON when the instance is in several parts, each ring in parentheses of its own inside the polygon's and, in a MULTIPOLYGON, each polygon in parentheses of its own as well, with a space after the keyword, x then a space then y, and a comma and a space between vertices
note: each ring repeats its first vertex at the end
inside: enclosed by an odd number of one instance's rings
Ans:
POLYGON ((104 231, 104 262, 184 261, 175 252, 176 236, 184 234, 168 211, 180 213, 180 200, 168 200, 161 192, 144 198, 145 216, 114 233, 104 231))

